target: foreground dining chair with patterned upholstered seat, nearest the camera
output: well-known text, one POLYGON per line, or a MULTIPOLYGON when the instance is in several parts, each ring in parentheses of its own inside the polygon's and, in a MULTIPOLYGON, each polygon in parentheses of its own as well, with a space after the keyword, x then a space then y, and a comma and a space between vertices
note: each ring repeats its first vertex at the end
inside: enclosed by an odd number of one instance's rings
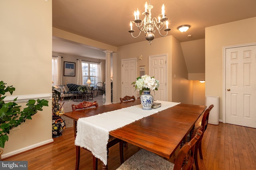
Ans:
POLYGON ((194 137, 178 152, 174 163, 145 149, 140 149, 116 170, 191 170, 194 162, 195 144, 202 135, 202 127, 194 132, 194 137))

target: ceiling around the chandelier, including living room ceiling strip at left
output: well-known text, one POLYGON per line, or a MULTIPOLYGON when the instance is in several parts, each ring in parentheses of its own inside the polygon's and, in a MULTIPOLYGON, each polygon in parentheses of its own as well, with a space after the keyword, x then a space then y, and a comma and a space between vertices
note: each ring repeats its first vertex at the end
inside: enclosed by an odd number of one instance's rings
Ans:
MULTIPOLYGON (((116 47, 145 41, 143 34, 135 39, 128 32, 129 23, 134 19, 134 10, 138 8, 143 12, 145 2, 146 0, 52 0, 52 26, 116 47)), ((180 42, 204 39, 205 27, 256 17, 256 0, 152 0, 151 4, 154 6, 153 17, 161 13, 161 6, 164 4, 171 28, 168 35, 173 35, 180 42), (184 24, 191 27, 187 32, 181 33, 177 27, 184 24)), ((137 35, 136 33, 138 30, 135 29, 134 34, 137 35)), ((155 37, 160 35, 155 33, 155 37)), ((86 45, 54 37, 52 51, 105 58, 103 50, 84 46, 86 45)))

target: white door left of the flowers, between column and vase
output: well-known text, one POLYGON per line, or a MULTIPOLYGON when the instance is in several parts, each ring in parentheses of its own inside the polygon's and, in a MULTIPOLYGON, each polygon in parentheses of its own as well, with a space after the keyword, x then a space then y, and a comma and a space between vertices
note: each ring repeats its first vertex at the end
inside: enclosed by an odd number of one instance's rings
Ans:
POLYGON ((124 59, 122 60, 122 98, 124 96, 136 96, 135 82, 137 78, 137 59, 124 59))

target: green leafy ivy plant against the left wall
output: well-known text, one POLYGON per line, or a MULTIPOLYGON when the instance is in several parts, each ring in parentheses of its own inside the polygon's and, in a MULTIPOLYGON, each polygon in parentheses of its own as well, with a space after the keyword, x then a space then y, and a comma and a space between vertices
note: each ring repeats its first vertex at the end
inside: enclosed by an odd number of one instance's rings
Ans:
POLYGON ((13 86, 6 86, 6 83, 0 81, 0 147, 4 148, 4 144, 8 141, 8 134, 14 127, 18 127, 26 119, 32 119, 32 115, 37 111, 42 111, 43 106, 48 106, 47 100, 28 100, 23 111, 20 110, 21 106, 16 104, 17 98, 13 102, 4 103, 6 92, 11 95, 15 91, 13 86))

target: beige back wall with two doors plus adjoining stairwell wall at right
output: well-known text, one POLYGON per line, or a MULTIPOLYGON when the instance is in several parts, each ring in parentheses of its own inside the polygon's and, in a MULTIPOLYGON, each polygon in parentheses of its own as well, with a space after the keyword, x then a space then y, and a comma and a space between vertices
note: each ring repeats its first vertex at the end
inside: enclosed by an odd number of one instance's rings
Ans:
MULTIPOLYGON (((156 38, 149 45, 148 41, 142 41, 139 43, 124 45, 118 47, 118 52, 113 53, 113 102, 119 102, 121 96, 122 87, 122 59, 137 58, 142 55, 142 60, 137 60, 137 76, 139 76, 138 67, 141 65, 146 66, 146 74, 149 74, 149 56, 150 55, 161 55, 167 54, 167 89, 168 89, 168 101, 190 103, 193 102, 192 96, 192 84, 188 81, 188 72, 186 70, 186 64, 184 63, 184 57, 180 42, 177 41, 173 36, 156 38), (173 68, 175 67, 175 68, 173 68), (172 83, 172 77, 174 73, 178 75, 176 78, 175 85, 176 88, 172 88, 174 84, 172 83), (172 90, 171 90, 172 89, 172 90), (176 94, 173 95, 173 90, 176 94)), ((135 77, 136 78, 136 77, 135 77)), ((134 79, 135 79, 134 78, 134 79)))

